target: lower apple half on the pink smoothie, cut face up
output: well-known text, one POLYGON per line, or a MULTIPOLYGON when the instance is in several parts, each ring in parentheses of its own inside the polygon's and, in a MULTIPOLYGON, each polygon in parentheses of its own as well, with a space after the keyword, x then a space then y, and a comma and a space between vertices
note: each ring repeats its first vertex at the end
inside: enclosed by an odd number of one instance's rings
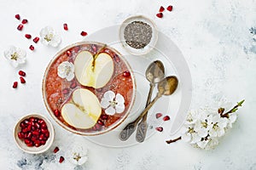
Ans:
POLYGON ((79 88, 73 92, 73 103, 63 105, 61 115, 65 122, 77 128, 87 129, 95 126, 102 114, 96 95, 90 90, 79 88))

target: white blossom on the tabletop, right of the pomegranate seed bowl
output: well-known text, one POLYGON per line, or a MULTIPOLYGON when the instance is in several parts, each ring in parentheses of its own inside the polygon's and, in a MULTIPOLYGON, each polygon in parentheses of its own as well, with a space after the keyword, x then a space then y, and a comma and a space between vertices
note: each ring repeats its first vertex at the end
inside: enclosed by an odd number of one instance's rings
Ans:
POLYGON ((82 165, 88 160, 88 150, 81 144, 73 144, 66 153, 67 160, 75 165, 82 165))

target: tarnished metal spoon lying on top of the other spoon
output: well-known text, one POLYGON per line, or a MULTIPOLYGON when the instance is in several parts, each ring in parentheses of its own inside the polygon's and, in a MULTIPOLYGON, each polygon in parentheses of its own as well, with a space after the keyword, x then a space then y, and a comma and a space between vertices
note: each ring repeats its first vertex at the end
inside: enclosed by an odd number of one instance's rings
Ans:
POLYGON ((125 141, 131 136, 136 129, 137 123, 141 120, 141 118, 148 112, 148 110, 154 105, 154 103, 162 97, 162 95, 171 95, 177 89, 177 77, 166 77, 161 80, 157 86, 158 93, 154 97, 154 99, 148 104, 145 110, 141 113, 140 116, 134 122, 130 122, 122 131, 119 133, 119 139, 125 141))

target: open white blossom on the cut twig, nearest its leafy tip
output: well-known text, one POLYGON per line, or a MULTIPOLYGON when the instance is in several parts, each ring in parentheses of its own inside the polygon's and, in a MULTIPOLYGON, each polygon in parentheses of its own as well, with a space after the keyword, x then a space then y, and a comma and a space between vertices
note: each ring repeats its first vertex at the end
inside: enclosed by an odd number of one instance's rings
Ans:
POLYGON ((211 137, 222 137, 225 133, 225 127, 227 127, 228 119, 221 117, 220 114, 215 114, 212 117, 212 128, 209 130, 211 137))

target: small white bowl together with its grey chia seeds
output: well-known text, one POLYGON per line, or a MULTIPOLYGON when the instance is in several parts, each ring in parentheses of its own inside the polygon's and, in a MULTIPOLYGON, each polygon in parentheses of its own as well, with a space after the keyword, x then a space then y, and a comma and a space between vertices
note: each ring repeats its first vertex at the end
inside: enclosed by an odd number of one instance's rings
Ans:
POLYGON ((131 16, 119 29, 119 38, 125 49, 135 55, 148 54, 157 42, 154 22, 143 15, 131 16))

